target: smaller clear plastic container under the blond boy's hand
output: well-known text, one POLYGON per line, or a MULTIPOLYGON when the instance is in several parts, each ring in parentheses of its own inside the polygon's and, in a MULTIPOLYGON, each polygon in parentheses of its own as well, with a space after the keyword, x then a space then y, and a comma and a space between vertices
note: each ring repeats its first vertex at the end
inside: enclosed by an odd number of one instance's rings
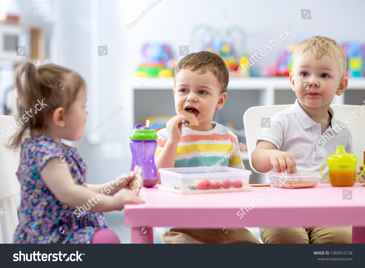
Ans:
POLYGON ((270 171, 268 177, 276 187, 293 189, 316 187, 322 179, 322 174, 319 171, 306 170, 298 170, 296 174, 270 171))

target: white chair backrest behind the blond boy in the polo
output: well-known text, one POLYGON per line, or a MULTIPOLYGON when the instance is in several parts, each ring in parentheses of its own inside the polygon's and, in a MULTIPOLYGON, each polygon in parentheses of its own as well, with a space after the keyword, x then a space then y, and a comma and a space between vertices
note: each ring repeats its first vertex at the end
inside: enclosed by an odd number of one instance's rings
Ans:
MULTIPOLYGON (((255 106, 249 108, 243 115, 243 124, 245 125, 249 162, 251 168, 254 171, 256 170, 252 167, 251 153, 256 147, 257 137, 261 134, 261 131, 263 129, 263 127, 261 127, 261 118, 271 118, 277 112, 283 111, 290 106, 292 106, 292 104, 255 106)), ((354 154, 357 156, 358 161, 362 162, 365 150, 365 107, 362 107, 364 110, 361 110, 361 106, 358 105, 337 104, 331 105, 331 108, 334 111, 335 118, 340 121, 344 120, 346 122, 346 125, 349 127, 352 134, 354 154), (355 114, 351 115, 351 112, 355 114), (357 116, 358 118, 355 118, 355 116, 357 116)))

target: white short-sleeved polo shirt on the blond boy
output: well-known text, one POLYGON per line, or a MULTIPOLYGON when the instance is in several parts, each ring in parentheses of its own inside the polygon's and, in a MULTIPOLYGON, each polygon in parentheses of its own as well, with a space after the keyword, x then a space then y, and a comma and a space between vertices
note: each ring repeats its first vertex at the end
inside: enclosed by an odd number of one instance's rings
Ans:
MULTIPOLYGON (((331 123, 321 135, 320 124, 309 117, 296 99, 291 107, 277 112, 270 119, 270 127, 263 128, 257 143, 268 141, 278 150, 293 154, 299 170, 319 171, 319 166, 335 153, 337 145, 343 145, 347 153, 353 153, 352 136, 346 123, 340 124, 335 119, 331 107, 328 112, 332 115, 331 123)), ((322 166, 322 172, 328 178, 327 164, 322 166)), ((322 177, 320 183, 328 181, 322 177)))

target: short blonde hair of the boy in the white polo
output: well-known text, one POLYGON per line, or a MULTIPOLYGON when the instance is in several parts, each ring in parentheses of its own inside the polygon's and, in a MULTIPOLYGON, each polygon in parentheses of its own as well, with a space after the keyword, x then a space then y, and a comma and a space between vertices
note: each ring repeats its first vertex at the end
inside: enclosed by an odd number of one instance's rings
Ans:
POLYGON ((345 77, 347 66, 346 54, 333 39, 320 35, 313 35, 312 37, 301 41, 293 51, 293 62, 297 55, 301 55, 305 52, 312 53, 316 60, 322 58, 324 55, 328 55, 331 58, 338 60, 341 78, 345 77))

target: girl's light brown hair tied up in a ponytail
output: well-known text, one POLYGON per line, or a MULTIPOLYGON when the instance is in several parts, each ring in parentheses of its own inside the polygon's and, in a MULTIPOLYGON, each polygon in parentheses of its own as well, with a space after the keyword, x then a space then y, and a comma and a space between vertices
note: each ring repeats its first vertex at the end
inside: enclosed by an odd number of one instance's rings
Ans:
POLYGON ((76 100, 77 93, 85 87, 85 80, 80 74, 54 64, 42 65, 36 69, 31 62, 23 63, 16 68, 14 78, 18 91, 17 116, 22 125, 12 136, 9 145, 11 148, 23 145, 26 131, 29 131, 31 137, 43 131, 46 119, 58 107, 63 107, 67 112, 76 100), (35 107, 42 102, 43 108, 41 105, 35 107), (31 116, 28 116, 26 112, 29 114, 31 109, 31 116))

